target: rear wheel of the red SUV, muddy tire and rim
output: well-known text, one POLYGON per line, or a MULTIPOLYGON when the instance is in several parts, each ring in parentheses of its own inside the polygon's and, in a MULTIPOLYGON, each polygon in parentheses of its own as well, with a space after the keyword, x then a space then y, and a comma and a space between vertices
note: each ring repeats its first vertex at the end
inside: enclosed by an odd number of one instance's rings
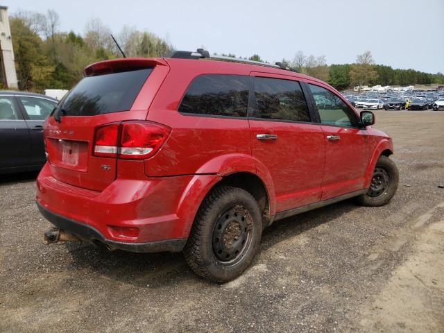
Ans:
POLYGON ((214 282, 237 278, 259 250, 262 217, 253 196, 237 187, 213 189, 200 205, 183 250, 189 267, 214 282))

